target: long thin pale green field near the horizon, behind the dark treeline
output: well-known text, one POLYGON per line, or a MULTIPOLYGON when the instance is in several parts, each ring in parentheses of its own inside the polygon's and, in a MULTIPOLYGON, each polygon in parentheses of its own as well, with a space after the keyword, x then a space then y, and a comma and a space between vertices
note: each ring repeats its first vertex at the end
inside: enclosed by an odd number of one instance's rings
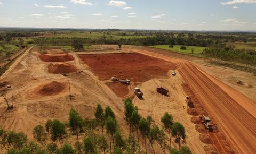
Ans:
POLYGON ((100 32, 81 32, 81 33, 58 33, 55 35, 51 35, 48 37, 77 37, 77 38, 91 38, 91 39, 99 39, 102 38, 103 36, 106 37, 106 39, 129 39, 129 38, 143 38, 146 36, 121 36, 121 35, 115 35, 115 34, 107 34, 107 33, 100 33, 100 32), (111 38, 112 37, 112 38, 111 38))

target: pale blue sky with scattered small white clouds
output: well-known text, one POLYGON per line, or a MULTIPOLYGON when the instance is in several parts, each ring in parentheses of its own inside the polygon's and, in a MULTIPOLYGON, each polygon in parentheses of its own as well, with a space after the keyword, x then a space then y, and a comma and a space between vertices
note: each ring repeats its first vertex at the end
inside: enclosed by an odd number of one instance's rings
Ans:
POLYGON ((0 0, 0 26, 256 30, 256 0, 0 0))

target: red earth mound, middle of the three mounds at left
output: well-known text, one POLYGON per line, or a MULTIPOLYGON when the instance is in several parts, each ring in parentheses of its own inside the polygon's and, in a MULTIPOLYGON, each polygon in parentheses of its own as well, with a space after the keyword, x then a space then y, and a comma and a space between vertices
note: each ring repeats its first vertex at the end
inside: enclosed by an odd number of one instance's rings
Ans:
POLYGON ((77 69, 75 66, 67 63, 61 63, 61 64, 53 63, 48 65, 48 72, 53 74, 72 73, 76 71, 77 69))

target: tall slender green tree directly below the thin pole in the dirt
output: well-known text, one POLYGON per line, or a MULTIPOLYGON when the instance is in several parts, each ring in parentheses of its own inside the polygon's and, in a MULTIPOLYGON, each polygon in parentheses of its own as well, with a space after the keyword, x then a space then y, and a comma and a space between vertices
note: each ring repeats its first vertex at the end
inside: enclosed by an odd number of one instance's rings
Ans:
POLYGON ((70 130, 73 133, 76 133, 76 138, 77 138, 77 143, 78 143, 78 152, 81 153, 78 134, 83 129, 83 119, 79 115, 79 113, 76 112, 76 110, 74 108, 71 108, 70 112, 69 112, 69 126, 70 126, 70 130))

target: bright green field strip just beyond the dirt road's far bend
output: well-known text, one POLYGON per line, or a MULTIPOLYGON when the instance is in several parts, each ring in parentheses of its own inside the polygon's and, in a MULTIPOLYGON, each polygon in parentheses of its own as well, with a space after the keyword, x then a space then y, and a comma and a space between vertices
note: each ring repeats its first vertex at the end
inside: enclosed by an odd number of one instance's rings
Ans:
POLYGON ((154 48, 159 48, 159 49, 165 49, 165 50, 170 50, 172 52, 177 52, 177 53, 182 53, 182 54, 190 54, 190 55, 199 55, 203 52, 205 47, 196 47, 196 46, 186 46, 186 50, 180 49, 180 45, 175 45, 173 48, 169 48, 169 45, 159 45, 159 46, 151 46, 154 48), (194 48, 194 53, 191 53, 191 49, 194 48))

